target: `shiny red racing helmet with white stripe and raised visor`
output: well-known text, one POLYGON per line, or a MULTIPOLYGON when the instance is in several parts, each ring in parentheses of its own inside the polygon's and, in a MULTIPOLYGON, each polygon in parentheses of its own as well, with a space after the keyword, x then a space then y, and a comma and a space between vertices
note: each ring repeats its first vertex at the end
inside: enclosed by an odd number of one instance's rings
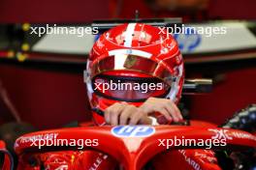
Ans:
POLYGON ((99 111, 114 102, 139 106, 150 97, 180 99, 183 59, 176 40, 144 23, 113 27, 94 43, 84 71, 87 95, 97 124, 99 111))

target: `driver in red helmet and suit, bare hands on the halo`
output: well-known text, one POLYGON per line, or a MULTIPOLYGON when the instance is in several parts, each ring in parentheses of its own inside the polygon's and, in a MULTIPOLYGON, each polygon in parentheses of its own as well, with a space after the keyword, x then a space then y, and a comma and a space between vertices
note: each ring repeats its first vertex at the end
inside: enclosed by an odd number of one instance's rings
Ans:
MULTIPOLYGON (((129 23, 105 32, 91 49, 84 81, 96 126, 182 121, 176 104, 184 81, 183 59, 174 38, 160 28, 129 23)), ((39 159, 50 170, 119 168, 111 156, 95 151, 49 152, 39 159)), ((156 156, 144 169, 221 168, 210 150, 176 150, 156 156)))

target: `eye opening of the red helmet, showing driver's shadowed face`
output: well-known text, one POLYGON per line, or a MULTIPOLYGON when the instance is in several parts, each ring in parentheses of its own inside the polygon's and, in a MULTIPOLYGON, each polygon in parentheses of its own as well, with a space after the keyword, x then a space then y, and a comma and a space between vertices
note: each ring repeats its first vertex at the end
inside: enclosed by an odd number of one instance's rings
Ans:
POLYGON ((99 74, 92 79, 94 92, 104 98, 121 101, 144 101, 164 98, 170 85, 155 77, 127 77, 99 74))

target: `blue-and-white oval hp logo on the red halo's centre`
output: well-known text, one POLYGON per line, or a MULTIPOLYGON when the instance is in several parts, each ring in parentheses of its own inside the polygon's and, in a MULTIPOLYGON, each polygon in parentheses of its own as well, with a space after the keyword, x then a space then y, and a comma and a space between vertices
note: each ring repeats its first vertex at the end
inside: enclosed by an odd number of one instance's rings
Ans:
POLYGON ((147 137, 155 133, 155 128, 148 126, 118 126, 112 128, 117 137, 147 137))

